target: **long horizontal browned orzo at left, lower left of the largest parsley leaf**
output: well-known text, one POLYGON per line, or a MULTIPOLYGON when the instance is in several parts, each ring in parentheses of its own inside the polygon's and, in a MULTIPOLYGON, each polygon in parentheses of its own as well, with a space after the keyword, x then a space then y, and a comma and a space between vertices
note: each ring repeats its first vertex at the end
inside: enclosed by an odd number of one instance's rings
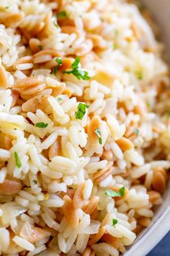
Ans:
POLYGON ((40 77, 27 77, 17 80, 12 88, 25 89, 36 85, 41 85, 44 81, 40 77))

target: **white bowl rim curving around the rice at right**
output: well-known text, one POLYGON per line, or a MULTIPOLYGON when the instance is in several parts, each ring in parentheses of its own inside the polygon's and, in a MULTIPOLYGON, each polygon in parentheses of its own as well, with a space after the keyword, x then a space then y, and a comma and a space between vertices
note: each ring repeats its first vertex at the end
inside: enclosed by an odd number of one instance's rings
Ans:
MULTIPOLYGON (((166 44, 166 59, 170 61, 170 0, 143 0, 161 27, 161 40, 166 44)), ((170 62, 169 62, 170 63, 170 62)), ((145 256, 170 230, 170 182, 162 205, 156 210, 151 226, 145 229, 128 248, 125 256, 145 256)))

